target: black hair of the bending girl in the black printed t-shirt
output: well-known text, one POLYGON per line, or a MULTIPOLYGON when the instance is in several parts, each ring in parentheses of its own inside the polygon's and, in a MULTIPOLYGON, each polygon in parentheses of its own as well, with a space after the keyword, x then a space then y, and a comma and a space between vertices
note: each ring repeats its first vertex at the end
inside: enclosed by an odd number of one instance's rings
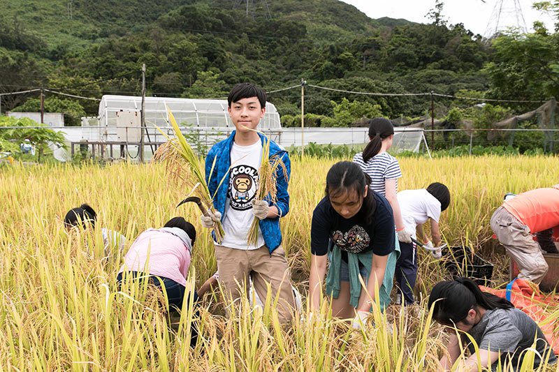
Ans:
MULTIPOLYGON (((365 192, 365 186, 370 182, 370 177, 359 165, 351 161, 340 161, 332 165, 326 174, 326 196, 331 198, 342 193, 356 193, 361 196, 365 192)), ((361 207, 361 211, 365 213, 365 222, 369 225, 372 223, 376 208, 375 195, 372 190, 369 190, 361 207)))

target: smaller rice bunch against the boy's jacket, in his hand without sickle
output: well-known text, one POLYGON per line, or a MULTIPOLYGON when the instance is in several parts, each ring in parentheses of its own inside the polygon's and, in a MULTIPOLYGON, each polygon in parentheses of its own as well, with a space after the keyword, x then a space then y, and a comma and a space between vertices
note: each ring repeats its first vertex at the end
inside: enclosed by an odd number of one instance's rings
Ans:
MULTIPOLYGON (((246 127, 245 127, 246 128, 246 127)), ((258 132, 258 131, 256 131, 258 132)), ((261 133, 261 132, 259 132, 261 133)), ((264 133, 262 133, 264 135, 264 133)), ((264 135, 262 144, 262 160, 258 171, 258 187, 256 188, 255 200, 263 200, 268 196, 270 202, 276 202, 277 195, 277 179, 276 172, 278 168, 282 168, 285 181, 289 181, 287 177, 287 169, 281 156, 275 155, 270 158, 270 138, 264 135)), ((278 209, 278 213, 281 213, 278 209)), ((279 216, 281 217, 281 216, 279 216)), ((247 243, 252 246, 258 244, 259 219, 254 217, 247 233, 247 243)))

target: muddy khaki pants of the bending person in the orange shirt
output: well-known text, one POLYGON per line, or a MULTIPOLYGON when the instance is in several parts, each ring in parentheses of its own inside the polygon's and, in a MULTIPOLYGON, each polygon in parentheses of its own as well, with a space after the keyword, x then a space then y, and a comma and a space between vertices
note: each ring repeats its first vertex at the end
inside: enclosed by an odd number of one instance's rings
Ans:
POLYGON ((499 207, 491 216, 491 228, 500 244, 516 262, 520 271, 518 278, 539 284, 549 267, 537 241, 532 239, 528 226, 518 221, 504 207, 499 207))

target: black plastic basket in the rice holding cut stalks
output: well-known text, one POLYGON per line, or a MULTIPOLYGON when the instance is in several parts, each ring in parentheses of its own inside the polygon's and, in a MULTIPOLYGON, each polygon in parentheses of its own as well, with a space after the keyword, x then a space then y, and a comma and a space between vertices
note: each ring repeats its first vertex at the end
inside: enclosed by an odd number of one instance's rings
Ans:
POLYGON ((493 265, 472 252, 468 246, 453 246, 443 249, 444 266, 453 278, 466 276, 478 284, 485 284, 493 275, 493 265))

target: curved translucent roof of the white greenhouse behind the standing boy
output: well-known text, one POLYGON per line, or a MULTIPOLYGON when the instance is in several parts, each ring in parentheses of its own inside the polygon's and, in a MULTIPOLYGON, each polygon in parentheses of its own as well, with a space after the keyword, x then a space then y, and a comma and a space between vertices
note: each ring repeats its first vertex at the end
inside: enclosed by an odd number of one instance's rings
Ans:
MULTIPOLYGON (((227 110, 227 100, 217 99, 145 97, 146 124, 165 126, 168 123, 166 106, 179 124, 199 128, 233 128, 227 110)), ((141 107, 142 97, 103 96, 99 103, 99 123, 102 126, 117 126, 117 112, 139 112, 141 107)), ((279 114, 272 103, 266 103, 266 113, 260 121, 259 128, 281 128, 279 114)))

